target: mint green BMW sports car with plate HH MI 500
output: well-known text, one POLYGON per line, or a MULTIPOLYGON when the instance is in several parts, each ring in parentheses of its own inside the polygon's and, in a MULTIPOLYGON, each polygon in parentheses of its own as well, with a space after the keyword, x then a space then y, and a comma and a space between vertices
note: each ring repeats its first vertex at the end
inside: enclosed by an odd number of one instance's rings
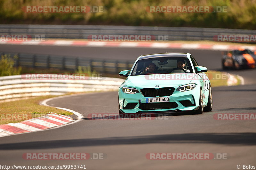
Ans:
POLYGON ((186 112, 202 114, 212 110, 212 89, 204 72, 189 53, 141 55, 119 87, 119 114, 186 112))

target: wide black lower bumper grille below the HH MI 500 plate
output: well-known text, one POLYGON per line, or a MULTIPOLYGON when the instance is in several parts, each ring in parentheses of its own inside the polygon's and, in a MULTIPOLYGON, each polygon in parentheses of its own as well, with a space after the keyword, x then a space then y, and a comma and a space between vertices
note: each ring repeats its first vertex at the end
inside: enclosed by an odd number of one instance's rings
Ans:
POLYGON ((156 109, 172 109, 178 107, 176 102, 161 102, 161 103, 140 103, 141 110, 156 110, 156 109))

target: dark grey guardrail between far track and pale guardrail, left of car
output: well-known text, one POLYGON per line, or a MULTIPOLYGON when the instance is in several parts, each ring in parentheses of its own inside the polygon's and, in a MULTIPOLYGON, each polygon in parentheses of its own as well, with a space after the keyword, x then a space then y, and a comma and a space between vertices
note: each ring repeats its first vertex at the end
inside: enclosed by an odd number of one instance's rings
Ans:
POLYGON ((77 70, 78 66, 90 67, 100 73, 118 74, 122 70, 132 68, 134 61, 124 60, 104 60, 104 59, 87 59, 81 57, 68 57, 58 55, 42 55, 28 53, 8 53, 2 52, 1 55, 7 54, 11 57, 17 56, 14 66, 25 66, 32 68, 57 68, 62 70, 77 70))

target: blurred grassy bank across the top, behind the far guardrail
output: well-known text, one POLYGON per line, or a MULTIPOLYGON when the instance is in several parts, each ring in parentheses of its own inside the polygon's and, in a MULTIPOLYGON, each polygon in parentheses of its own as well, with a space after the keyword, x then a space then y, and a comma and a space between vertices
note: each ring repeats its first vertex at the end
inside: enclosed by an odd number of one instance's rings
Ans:
POLYGON ((185 26, 255 29, 254 0, 0 0, 2 24, 185 26), (24 6, 104 6, 98 13, 26 13, 24 6), (150 13, 147 6, 227 6, 218 13, 150 13))

